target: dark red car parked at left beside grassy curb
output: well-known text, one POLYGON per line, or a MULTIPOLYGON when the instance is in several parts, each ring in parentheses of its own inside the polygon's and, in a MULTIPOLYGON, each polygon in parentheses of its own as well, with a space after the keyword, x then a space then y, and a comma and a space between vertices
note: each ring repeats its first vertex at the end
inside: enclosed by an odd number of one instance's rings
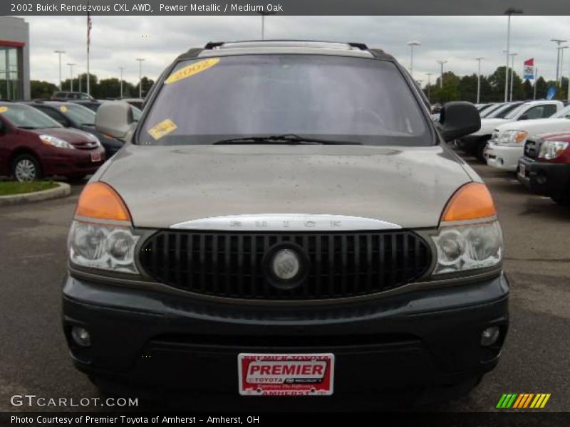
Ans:
POLYGON ((61 175, 81 179, 105 162, 93 135, 63 128, 28 105, 0 102, 0 175, 18 181, 61 175))

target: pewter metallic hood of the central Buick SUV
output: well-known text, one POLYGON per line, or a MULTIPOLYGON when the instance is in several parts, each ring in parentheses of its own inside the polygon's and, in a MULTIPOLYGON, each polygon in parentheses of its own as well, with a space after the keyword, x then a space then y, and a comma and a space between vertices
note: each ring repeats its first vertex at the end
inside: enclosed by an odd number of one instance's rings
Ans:
POLYGON ((137 227, 327 214, 419 228, 437 226, 450 196, 471 181, 464 168, 440 146, 128 144, 95 179, 118 191, 137 227))

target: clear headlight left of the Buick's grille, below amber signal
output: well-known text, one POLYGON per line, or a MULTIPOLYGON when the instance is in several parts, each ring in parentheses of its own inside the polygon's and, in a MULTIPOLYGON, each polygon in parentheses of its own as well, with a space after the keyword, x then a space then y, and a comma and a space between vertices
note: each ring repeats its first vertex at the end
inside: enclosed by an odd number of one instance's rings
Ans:
POLYGON ((71 263, 122 273, 138 273, 135 246, 139 236, 130 227, 73 221, 68 237, 71 263))

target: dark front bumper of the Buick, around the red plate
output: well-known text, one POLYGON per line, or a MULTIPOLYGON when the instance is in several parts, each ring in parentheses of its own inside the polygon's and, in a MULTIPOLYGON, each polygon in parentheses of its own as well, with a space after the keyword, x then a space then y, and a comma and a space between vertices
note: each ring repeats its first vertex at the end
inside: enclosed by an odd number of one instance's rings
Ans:
MULTIPOLYGON (((507 278, 334 305, 204 302, 66 276, 63 327, 76 367, 128 386, 236 396, 237 355, 335 354, 336 396, 455 384, 490 371, 507 333, 507 278), (78 347, 74 325, 91 347, 78 347), (501 331, 480 345, 485 328, 501 331)), ((247 399, 247 398, 246 398, 247 399)))

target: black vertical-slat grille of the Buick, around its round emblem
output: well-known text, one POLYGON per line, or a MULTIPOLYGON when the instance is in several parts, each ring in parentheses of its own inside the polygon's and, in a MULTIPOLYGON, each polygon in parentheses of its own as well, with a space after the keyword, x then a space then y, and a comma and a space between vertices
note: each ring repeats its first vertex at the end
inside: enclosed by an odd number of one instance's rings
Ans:
POLYGON ((227 233, 158 231, 140 250, 155 280, 202 295, 248 300, 322 300, 398 288, 431 265, 427 242, 411 231, 227 233), (274 286, 266 253, 294 244, 308 260, 294 288, 274 286))

